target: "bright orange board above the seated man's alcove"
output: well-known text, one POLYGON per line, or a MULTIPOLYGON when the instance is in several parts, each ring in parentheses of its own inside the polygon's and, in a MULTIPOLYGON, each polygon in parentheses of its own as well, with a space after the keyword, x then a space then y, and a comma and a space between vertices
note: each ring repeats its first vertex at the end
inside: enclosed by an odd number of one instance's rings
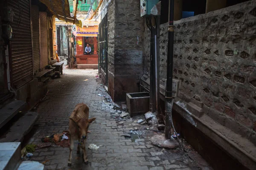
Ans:
POLYGON ((84 26, 83 28, 76 26, 76 36, 78 37, 97 37, 99 34, 99 26, 84 26))

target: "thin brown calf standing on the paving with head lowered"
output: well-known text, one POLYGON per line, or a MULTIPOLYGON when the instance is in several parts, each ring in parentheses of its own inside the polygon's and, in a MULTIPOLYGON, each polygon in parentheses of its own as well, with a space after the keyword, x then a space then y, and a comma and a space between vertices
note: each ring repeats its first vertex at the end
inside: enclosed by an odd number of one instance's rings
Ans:
POLYGON ((80 153, 80 147, 83 150, 83 161, 88 164, 88 159, 85 150, 85 142, 87 139, 88 127, 91 122, 96 118, 89 119, 89 108, 84 103, 79 103, 71 113, 70 116, 70 156, 68 159, 68 166, 71 166, 72 162, 72 150, 74 149, 74 140, 78 140, 77 152, 80 153))

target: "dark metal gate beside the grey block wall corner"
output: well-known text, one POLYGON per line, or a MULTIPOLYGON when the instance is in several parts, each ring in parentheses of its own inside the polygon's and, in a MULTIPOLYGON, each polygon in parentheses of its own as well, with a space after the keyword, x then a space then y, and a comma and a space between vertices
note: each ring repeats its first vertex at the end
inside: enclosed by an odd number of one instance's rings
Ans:
POLYGON ((108 14, 99 24, 99 66, 105 72, 102 75, 108 85, 108 14))

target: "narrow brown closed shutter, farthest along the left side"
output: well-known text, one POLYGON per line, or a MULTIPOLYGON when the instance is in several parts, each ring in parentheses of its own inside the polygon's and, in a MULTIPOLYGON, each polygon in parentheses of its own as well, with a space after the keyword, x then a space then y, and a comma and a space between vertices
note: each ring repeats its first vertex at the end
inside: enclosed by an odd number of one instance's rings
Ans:
POLYGON ((40 18, 40 62, 41 68, 48 65, 48 48, 47 48, 47 13, 39 12, 40 18))

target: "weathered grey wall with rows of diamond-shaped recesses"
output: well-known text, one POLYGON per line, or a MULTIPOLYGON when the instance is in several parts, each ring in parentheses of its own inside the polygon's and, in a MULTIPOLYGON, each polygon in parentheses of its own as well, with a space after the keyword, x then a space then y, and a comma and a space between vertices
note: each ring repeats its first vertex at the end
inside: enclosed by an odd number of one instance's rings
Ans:
MULTIPOLYGON (((167 29, 161 25, 160 80, 167 29)), ((182 81, 181 99, 196 96, 205 114, 256 144, 256 0, 176 21, 173 74, 182 81)))

